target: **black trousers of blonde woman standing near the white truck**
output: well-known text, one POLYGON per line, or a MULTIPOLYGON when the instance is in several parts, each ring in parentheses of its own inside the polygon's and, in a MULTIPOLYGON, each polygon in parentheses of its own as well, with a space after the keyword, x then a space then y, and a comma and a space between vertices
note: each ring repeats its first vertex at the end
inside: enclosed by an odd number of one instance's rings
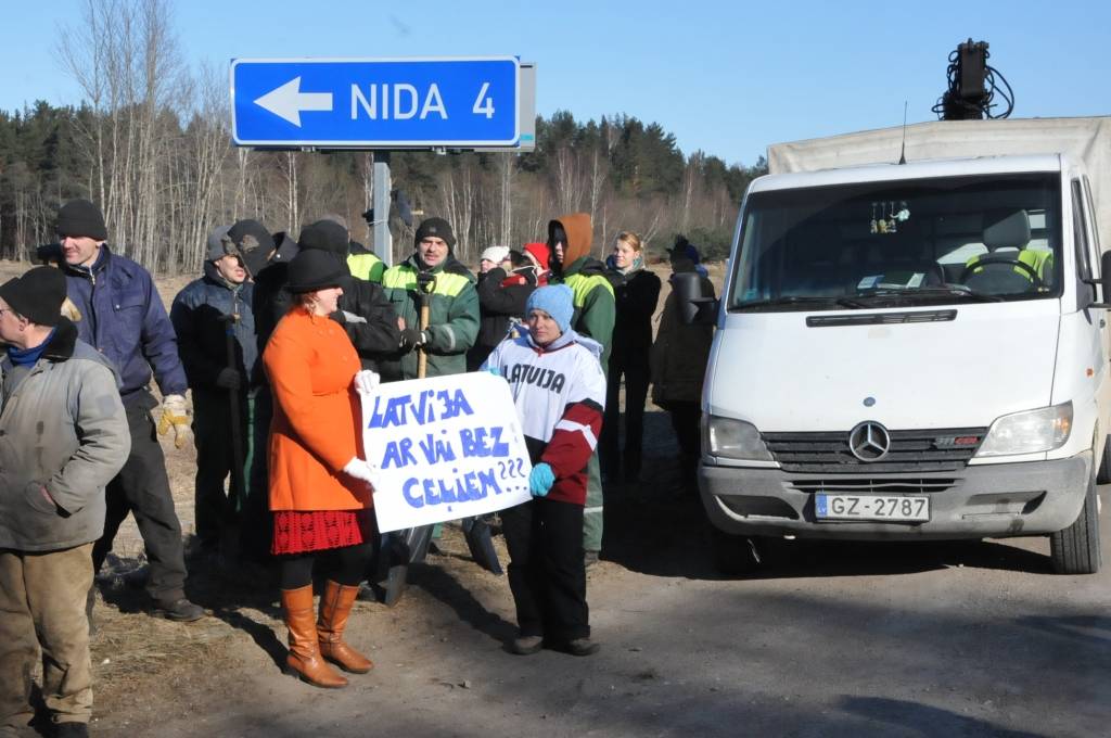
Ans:
POLYGON ((605 380, 605 415, 599 439, 599 459, 602 471, 609 476, 624 475, 627 481, 640 477, 644 441, 644 401, 649 383, 648 351, 624 351, 610 357, 609 377, 605 380), (624 458, 621 458, 621 377, 624 376, 624 458))

